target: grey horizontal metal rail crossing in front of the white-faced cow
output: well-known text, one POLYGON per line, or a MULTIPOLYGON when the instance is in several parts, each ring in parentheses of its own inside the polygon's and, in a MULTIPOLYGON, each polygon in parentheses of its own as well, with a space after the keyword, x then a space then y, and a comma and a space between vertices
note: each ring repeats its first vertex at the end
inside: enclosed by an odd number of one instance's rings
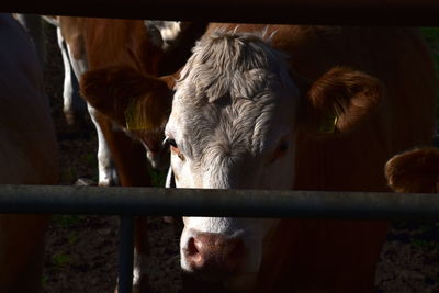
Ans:
POLYGON ((439 194, 0 185, 0 213, 439 219, 439 194))

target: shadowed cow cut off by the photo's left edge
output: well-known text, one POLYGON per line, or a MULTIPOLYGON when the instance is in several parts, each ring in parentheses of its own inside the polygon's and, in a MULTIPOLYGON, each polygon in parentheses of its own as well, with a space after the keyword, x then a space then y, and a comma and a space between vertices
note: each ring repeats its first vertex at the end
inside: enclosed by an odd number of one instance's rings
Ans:
MULTIPOLYGON (((55 184, 57 144, 43 72, 11 14, 0 14, 0 184, 55 184)), ((38 292, 46 215, 0 215, 0 292, 38 292)))

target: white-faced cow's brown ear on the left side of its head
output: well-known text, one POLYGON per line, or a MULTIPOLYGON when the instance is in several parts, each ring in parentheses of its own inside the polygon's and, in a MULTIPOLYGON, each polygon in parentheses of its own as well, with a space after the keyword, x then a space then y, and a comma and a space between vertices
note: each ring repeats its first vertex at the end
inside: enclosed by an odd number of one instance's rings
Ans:
POLYGON ((145 76, 128 66, 109 66, 85 72, 80 91, 90 105, 121 126, 153 131, 170 112, 172 80, 145 76))

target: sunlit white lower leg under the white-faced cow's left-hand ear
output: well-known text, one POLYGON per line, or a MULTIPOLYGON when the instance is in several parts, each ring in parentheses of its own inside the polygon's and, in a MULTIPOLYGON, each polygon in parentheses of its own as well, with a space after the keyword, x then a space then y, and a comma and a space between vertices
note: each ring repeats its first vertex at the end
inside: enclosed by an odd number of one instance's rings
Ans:
POLYGON ((114 168, 113 160, 106 139, 104 137, 101 124, 98 122, 98 113, 94 108, 88 104, 88 110, 91 121, 94 124, 98 134, 98 170, 99 170, 99 185, 111 187, 117 184, 117 172, 114 168))

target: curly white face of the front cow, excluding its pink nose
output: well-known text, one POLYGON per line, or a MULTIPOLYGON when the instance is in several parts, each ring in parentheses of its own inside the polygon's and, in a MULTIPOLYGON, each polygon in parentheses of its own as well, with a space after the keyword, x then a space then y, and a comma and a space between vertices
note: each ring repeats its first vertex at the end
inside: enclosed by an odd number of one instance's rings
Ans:
MULTIPOLYGON (((283 56, 257 36, 221 33, 193 52, 166 126, 177 188, 291 189, 299 92, 283 56)), ((247 249, 243 273, 257 272, 277 223, 185 217, 180 248, 200 232, 239 236, 247 249)))

